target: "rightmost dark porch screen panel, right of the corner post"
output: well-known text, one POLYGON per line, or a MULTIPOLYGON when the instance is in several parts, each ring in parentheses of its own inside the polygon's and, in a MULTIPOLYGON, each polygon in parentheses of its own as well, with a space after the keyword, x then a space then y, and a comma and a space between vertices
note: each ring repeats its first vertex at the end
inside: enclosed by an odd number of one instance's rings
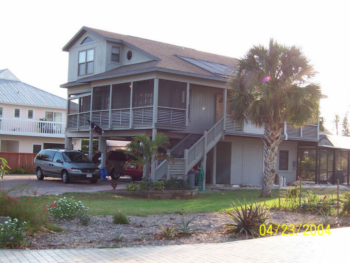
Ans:
POLYGON ((184 82, 159 80, 158 106, 185 109, 186 88, 184 82))

